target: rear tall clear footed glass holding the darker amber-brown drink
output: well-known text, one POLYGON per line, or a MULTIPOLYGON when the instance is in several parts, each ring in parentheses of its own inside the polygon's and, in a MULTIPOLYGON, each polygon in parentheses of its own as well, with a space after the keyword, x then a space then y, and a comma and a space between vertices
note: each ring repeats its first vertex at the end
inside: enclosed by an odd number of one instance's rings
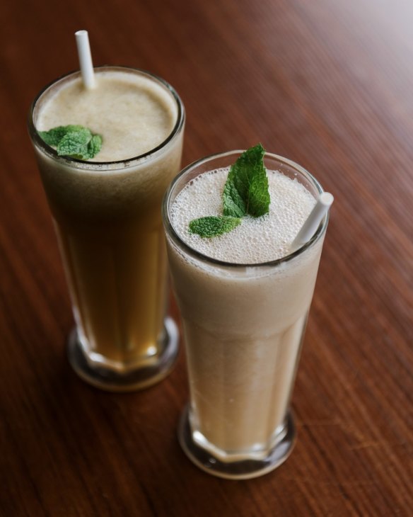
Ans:
POLYGON ((177 327, 165 317, 161 200, 180 169, 185 112, 162 79, 127 67, 95 69, 98 75, 107 71, 144 77, 170 97, 175 125, 156 149, 122 161, 93 162, 59 157, 45 144, 35 129, 42 105, 78 72, 39 93, 28 126, 73 305, 70 363, 92 385, 128 391, 165 377, 178 353, 177 327))

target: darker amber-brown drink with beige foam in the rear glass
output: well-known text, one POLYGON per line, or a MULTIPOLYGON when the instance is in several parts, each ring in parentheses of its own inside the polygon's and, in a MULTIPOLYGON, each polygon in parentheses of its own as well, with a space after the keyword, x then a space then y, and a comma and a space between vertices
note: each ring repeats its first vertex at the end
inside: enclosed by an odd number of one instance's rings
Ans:
POLYGON ((180 167, 184 115, 173 89, 150 74, 95 72, 94 89, 71 74, 40 94, 30 133, 74 304, 71 363, 95 385, 127 390, 165 375, 176 353, 164 329, 160 210, 180 167), (70 124, 102 135, 90 161, 57 157, 35 132, 70 124))

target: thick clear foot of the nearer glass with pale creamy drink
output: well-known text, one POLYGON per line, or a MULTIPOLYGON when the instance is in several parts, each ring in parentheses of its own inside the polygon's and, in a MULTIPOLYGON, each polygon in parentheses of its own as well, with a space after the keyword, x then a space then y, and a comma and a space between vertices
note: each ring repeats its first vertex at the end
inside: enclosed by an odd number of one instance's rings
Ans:
POLYGON ((296 441, 296 427, 289 411, 283 438, 264 458, 224 462, 194 441, 190 428, 189 407, 186 407, 178 427, 178 440, 187 457, 205 472, 225 479, 250 479, 271 472, 289 457, 296 441))

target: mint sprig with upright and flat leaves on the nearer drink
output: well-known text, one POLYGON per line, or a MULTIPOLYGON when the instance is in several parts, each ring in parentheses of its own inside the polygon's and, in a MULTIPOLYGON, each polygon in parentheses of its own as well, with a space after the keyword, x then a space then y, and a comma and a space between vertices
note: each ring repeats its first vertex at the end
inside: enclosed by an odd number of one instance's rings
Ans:
POLYGON ((240 225, 246 215, 260 217, 269 212, 268 178, 261 144, 247 149, 231 166, 223 187, 223 215, 199 217, 189 231, 200 237, 218 237, 240 225))

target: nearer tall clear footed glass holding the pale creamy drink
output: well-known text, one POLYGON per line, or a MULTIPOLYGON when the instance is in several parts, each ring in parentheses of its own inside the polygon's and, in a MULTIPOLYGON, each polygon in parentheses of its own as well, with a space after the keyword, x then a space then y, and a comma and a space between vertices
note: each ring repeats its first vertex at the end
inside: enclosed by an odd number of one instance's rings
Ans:
MULTIPOLYGON (((173 288, 182 315, 190 404, 180 444, 200 468, 245 479, 286 460, 295 438, 290 411, 327 217, 314 237, 276 261, 234 264, 187 246, 170 220, 182 188, 205 171, 230 166, 240 152, 195 162, 177 176, 163 201, 173 288)), ((322 188, 305 169, 267 153, 267 169, 322 188)))

